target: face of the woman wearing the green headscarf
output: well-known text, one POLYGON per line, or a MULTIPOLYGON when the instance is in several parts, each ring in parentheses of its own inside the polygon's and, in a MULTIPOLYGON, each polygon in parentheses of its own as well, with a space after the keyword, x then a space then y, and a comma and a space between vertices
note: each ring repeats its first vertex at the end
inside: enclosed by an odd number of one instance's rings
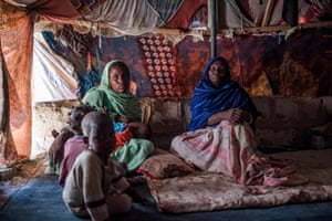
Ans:
POLYGON ((110 69, 108 74, 110 85, 117 93, 125 93, 129 87, 129 74, 124 73, 120 66, 110 69))

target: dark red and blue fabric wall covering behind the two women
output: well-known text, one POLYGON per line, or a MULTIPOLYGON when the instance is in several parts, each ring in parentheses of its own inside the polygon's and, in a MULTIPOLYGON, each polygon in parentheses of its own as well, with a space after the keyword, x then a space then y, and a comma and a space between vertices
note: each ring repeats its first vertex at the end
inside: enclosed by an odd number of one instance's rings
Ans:
MULTIPOLYGON (((232 80, 251 95, 330 96, 331 32, 331 28, 321 28, 300 30, 288 38, 282 33, 218 38, 217 53, 229 60, 232 80)), ((87 50, 98 73, 110 60, 125 61, 137 97, 190 97, 210 57, 210 41, 208 36, 201 41, 187 35, 175 44, 162 34, 95 36, 87 50)), ((80 65, 74 66, 80 71, 80 65)), ((82 82, 86 77, 79 71, 82 82)))

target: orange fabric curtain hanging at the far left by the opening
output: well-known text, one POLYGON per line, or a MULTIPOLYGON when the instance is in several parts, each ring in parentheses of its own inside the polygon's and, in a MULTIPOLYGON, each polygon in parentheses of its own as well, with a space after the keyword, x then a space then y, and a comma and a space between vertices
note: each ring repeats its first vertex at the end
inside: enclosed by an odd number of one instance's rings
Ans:
POLYGON ((12 137, 9 137, 11 144, 8 148, 15 149, 18 155, 29 158, 32 122, 30 84, 33 24, 27 12, 18 12, 3 7, 4 4, 0 4, 0 11, 2 10, 9 18, 6 30, 0 30, 1 50, 8 70, 9 85, 10 136, 12 137))

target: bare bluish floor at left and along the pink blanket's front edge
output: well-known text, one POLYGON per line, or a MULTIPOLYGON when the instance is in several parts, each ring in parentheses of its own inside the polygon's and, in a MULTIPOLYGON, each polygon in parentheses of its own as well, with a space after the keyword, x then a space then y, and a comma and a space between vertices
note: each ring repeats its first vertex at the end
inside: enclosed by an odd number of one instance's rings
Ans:
MULTIPOLYGON (((56 176, 44 175, 45 158, 21 160, 17 176, 0 183, 0 221, 80 221, 62 201, 56 176)), ((332 201, 284 204, 271 208, 243 208, 207 212, 164 213, 146 185, 137 186, 148 204, 134 203, 131 212, 116 215, 115 221, 315 221, 332 220, 332 201)))

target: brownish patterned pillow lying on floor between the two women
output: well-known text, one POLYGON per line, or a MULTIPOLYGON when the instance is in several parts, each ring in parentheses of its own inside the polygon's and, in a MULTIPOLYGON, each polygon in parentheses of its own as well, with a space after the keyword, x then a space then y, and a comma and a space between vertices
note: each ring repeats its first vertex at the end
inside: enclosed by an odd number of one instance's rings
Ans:
POLYGON ((195 171, 180 158, 172 154, 159 154, 147 158, 136 172, 143 173, 152 179, 164 179, 181 177, 195 171))

